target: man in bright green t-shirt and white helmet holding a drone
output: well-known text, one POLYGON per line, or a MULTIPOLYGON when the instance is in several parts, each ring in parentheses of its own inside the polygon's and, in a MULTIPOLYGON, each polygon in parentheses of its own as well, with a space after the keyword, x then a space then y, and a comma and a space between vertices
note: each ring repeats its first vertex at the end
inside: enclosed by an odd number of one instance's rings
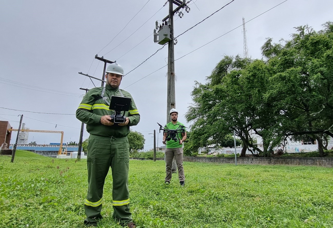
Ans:
MULTIPOLYGON (((179 129, 180 126, 184 126, 182 123, 177 121, 178 119, 178 112, 176 109, 170 110, 171 122, 166 125, 168 130, 176 130, 179 129)), ((186 140, 186 131, 184 133, 179 132, 177 137, 179 140, 169 140, 166 141, 167 133, 163 135, 163 144, 166 144, 166 178, 165 184, 170 184, 170 180, 172 177, 172 160, 173 157, 176 160, 177 168, 178 168, 178 178, 179 183, 181 186, 185 185, 185 175, 184 175, 184 168, 183 168, 183 148, 182 143, 186 140)))

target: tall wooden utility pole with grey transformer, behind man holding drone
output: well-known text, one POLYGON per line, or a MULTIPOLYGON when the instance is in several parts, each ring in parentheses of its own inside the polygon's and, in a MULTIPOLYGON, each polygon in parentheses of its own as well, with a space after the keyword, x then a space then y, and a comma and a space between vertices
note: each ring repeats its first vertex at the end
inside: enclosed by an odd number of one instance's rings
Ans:
MULTIPOLYGON (((158 26, 158 21, 156 21, 156 29, 159 29, 159 33, 156 33, 154 29, 154 42, 161 45, 166 44, 168 41, 168 61, 167 61, 167 98, 166 98, 166 123, 171 121, 169 114, 170 109, 176 108, 176 96, 175 96, 175 73, 174 73, 174 36, 173 36, 173 16, 178 13, 178 16, 181 18, 184 14, 179 12, 179 10, 184 9, 188 13, 190 8, 186 5, 186 1, 183 0, 168 0, 169 1, 169 14, 162 20, 163 24, 158 26), (173 10, 173 4, 177 7, 173 10), (168 22, 167 22, 168 20, 168 22), (168 26, 168 27, 167 27, 168 26), (169 33, 169 34, 167 34, 169 33), (159 39, 157 39, 157 35, 159 39)), ((166 158, 164 158, 166 159, 166 158)), ((176 160, 172 160, 172 173, 176 172, 176 160)))

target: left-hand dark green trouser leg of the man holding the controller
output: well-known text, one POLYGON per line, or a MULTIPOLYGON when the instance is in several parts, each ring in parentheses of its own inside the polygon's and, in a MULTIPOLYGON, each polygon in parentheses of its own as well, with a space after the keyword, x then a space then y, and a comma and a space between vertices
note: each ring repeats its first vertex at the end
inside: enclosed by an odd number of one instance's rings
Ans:
POLYGON ((88 165, 88 193, 85 200, 87 218, 85 224, 96 223, 102 218, 102 197, 105 177, 111 164, 110 138, 89 136, 87 165, 88 165))

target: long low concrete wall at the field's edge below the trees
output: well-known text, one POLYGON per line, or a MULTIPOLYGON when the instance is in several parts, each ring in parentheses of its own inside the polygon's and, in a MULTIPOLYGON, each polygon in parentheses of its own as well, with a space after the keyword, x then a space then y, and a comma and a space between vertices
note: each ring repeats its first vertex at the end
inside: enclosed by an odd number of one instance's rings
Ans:
MULTIPOLYGON (((235 158, 207 158, 207 157, 183 157, 183 161, 191 162, 218 162, 235 164, 235 158)), ((244 157, 237 158, 237 164, 253 165, 315 165, 333 167, 333 158, 281 158, 281 157, 244 157)))

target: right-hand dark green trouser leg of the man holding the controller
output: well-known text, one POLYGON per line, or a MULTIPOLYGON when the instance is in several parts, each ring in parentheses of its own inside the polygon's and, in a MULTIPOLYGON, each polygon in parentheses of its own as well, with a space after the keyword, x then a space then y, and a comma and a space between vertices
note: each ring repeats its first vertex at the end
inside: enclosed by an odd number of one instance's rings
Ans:
POLYGON ((127 223, 132 221, 130 212, 130 194, 128 189, 128 170, 130 162, 130 145, 127 137, 113 138, 111 150, 114 157, 111 161, 112 169, 112 217, 127 223))

